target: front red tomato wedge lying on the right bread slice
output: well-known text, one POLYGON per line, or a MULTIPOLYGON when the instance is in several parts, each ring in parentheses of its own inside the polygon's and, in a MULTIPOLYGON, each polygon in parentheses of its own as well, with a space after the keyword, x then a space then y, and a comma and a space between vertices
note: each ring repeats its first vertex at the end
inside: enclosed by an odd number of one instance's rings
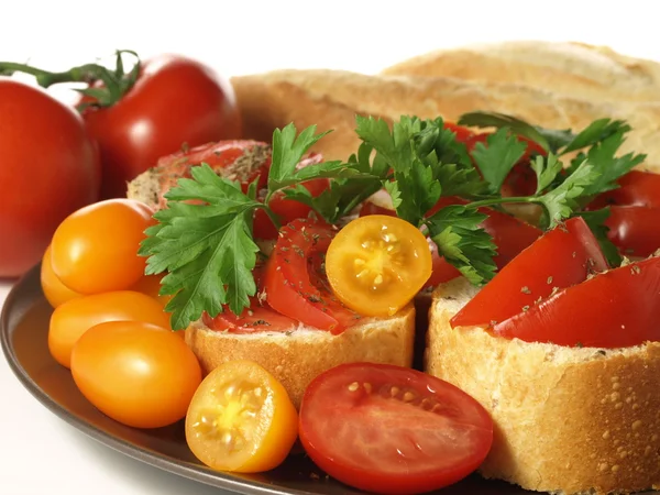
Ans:
POLYGON ((627 348, 660 340, 660 257, 598 274, 495 326, 499 336, 559 345, 627 348))

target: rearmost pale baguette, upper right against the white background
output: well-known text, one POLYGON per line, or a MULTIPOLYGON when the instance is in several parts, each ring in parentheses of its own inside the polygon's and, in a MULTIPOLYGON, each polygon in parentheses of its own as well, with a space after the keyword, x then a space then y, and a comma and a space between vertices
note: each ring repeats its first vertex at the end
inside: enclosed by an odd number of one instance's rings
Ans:
POLYGON ((591 101, 660 100, 660 64, 584 43, 509 41, 439 50, 382 74, 522 84, 591 101))

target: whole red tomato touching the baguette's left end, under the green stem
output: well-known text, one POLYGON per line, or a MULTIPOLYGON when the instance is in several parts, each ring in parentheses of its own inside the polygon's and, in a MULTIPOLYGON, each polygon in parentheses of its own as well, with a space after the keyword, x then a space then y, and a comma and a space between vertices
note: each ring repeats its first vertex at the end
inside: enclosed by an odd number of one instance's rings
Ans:
POLYGON ((241 136, 229 81, 176 55, 144 61, 138 81, 119 102, 89 107, 84 118, 100 145, 105 198, 125 196, 128 180, 184 144, 241 136))

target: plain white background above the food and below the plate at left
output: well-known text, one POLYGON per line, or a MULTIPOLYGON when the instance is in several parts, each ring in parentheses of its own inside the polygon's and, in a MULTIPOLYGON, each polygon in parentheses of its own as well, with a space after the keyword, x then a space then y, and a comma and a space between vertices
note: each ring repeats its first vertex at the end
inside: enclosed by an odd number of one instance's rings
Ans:
MULTIPOLYGON (((377 73, 438 47, 537 38, 606 44, 660 61, 653 2, 393 0, 392 7, 385 4, 8 0, 0 2, 0 59, 30 59, 64 69, 116 48, 131 48, 143 57, 161 52, 191 55, 228 76, 286 67, 377 73)), ((37 156, 38 151, 33 153, 37 156)), ((0 306, 9 286, 0 283, 0 306)), ((2 359, 0 397, 2 495, 219 493, 87 439, 33 399, 2 359)))

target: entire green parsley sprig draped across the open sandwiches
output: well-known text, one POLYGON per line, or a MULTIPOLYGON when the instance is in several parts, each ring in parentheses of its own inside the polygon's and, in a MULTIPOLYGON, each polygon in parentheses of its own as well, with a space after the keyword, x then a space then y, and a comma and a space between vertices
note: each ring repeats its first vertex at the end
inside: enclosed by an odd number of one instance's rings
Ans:
POLYGON ((166 273, 161 294, 174 296, 166 310, 172 326, 183 329, 202 311, 216 316, 223 306, 239 315, 256 293, 252 270, 258 246, 252 228, 255 210, 263 209, 279 227, 268 208, 276 193, 310 206, 330 223, 351 215, 371 195, 385 188, 397 215, 422 229, 439 253, 474 284, 495 274, 496 246, 481 227, 481 207, 506 204, 538 205, 541 227, 551 228, 582 215, 607 251, 603 221, 606 210, 583 212, 595 195, 617 187, 616 180, 644 161, 644 155, 616 156, 629 127, 607 119, 585 130, 548 131, 518 119, 494 113, 471 113, 460 120, 474 127, 497 128, 472 155, 442 119, 402 117, 392 129, 374 118, 356 118, 362 140, 355 154, 339 161, 297 165, 322 139, 316 127, 299 134, 293 124, 273 134, 273 157, 265 200, 257 200, 256 183, 248 194, 240 184, 218 176, 208 165, 191 168, 191 178, 179 179, 165 194, 167 207, 155 213, 158 223, 146 231, 140 254, 147 256, 147 274, 166 273), (527 146, 518 136, 539 143, 547 154, 530 158, 537 176, 535 194, 503 197, 502 187, 527 146), (568 166, 561 157, 574 156, 568 166), (314 197, 307 180, 328 178, 329 187, 314 197), (441 197, 459 196, 465 205, 429 210, 441 197), (189 200, 198 202, 190 204, 189 200))

